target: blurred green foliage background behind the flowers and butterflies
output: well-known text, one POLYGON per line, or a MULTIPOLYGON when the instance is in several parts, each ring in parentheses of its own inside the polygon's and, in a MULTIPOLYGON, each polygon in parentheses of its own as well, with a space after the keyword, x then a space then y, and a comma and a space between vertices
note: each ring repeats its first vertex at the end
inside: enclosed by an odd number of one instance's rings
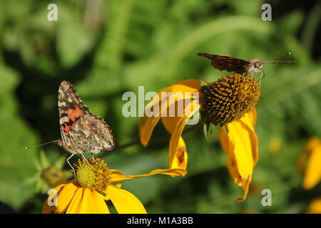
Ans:
MULTIPOLYGON (((61 81, 76 86, 121 147, 138 141, 139 118, 122 115, 124 92, 227 74, 198 52, 263 60, 291 52, 297 61, 264 67, 260 159, 248 199, 234 201, 241 189, 230 179, 218 137, 207 142, 202 128, 184 137, 185 177, 128 180, 123 188, 150 213, 305 212, 321 196, 320 185, 302 190, 297 172, 305 142, 321 135, 320 11, 320 1, 0 1, 0 212, 39 213, 46 191, 36 187, 37 161, 54 164, 69 155, 55 144, 24 149, 60 138, 61 81), (58 21, 47 20, 50 3, 58 6, 58 21), (264 3, 272 6, 272 21, 261 19, 264 3), (272 207, 261 204, 265 188, 272 190, 272 207)), ((166 168, 169 138, 160 124, 147 148, 116 147, 99 156, 128 175, 166 168)), ((68 170, 66 162, 63 167, 68 170)))

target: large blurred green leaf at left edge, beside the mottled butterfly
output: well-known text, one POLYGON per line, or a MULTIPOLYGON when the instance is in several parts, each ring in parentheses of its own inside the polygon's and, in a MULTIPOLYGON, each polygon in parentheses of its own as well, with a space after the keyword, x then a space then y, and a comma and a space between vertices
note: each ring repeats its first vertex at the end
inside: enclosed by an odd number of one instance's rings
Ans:
POLYGON ((24 148, 35 145, 36 137, 18 110, 19 75, 0 63, 0 81, 0 201, 18 209, 34 193, 33 187, 21 183, 36 172, 36 150, 24 148))

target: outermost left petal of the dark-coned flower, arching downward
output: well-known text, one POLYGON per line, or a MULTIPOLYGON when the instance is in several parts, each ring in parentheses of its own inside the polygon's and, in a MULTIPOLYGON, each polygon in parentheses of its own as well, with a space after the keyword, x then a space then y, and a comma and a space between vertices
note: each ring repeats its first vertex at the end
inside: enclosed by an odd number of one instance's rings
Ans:
MULTIPOLYGON (((139 123, 139 138, 141 140, 141 144, 146 147, 148 145, 148 141, 151 138, 151 133, 155 128, 158 120, 161 118, 163 113, 167 113, 168 106, 172 105, 173 103, 177 102, 178 100, 184 99, 184 96, 177 96, 177 93, 184 93, 184 92, 198 92, 200 90, 200 81, 198 80, 185 80, 175 83, 171 86, 167 86, 163 88, 156 98, 153 98, 148 105, 146 105, 145 110, 151 110, 158 106, 158 112, 156 116, 148 117, 144 115, 139 123), (162 98, 161 94, 163 92, 173 92, 171 93, 168 98, 162 98), (169 102, 167 102, 169 100, 169 102), (163 104, 163 105, 162 105, 163 104)), ((164 116, 164 115, 163 115, 164 116)))

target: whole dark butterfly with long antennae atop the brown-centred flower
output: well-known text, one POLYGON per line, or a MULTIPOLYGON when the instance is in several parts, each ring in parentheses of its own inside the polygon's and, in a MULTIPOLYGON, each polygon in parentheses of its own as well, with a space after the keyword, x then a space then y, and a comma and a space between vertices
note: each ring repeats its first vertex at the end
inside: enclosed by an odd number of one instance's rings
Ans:
MULTIPOLYGON (((291 53, 287 53, 287 56, 291 53)), ((235 73, 258 73, 262 71, 263 66, 266 63, 295 63, 295 61, 268 61, 263 62, 258 58, 253 58, 250 61, 246 61, 240 58, 234 58, 230 56, 219 56, 208 53, 198 53, 198 56, 203 56, 210 59, 212 66, 220 71, 233 71, 235 73)))

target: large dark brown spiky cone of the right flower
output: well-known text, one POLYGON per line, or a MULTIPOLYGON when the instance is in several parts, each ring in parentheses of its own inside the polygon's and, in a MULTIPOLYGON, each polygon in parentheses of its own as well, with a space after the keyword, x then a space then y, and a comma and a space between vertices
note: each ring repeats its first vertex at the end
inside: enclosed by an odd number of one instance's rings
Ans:
POLYGON ((235 73, 218 79, 203 88, 205 115, 214 125, 223 126, 248 113, 260 98, 256 78, 235 73))

